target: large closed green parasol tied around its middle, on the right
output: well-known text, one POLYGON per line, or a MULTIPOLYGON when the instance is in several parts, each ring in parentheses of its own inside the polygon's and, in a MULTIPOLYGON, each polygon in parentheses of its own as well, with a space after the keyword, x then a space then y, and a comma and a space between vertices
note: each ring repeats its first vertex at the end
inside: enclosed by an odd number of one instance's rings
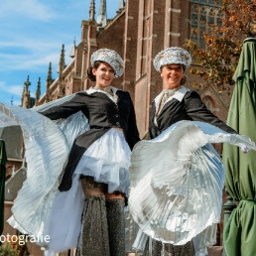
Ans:
MULTIPOLYGON (((256 39, 243 42, 233 79, 227 124, 256 141, 256 39)), ((256 255, 256 152, 225 144, 223 163, 226 190, 239 202, 224 226, 226 254, 256 255)))

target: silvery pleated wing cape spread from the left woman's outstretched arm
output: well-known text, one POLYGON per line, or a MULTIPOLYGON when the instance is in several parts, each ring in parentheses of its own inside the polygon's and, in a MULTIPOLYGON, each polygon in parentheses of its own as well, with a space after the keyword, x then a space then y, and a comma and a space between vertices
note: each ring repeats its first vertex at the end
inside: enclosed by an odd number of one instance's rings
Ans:
MULTIPOLYGON (((37 113, 40 108, 33 110, 0 103, 0 111, 22 128, 28 164, 27 180, 15 198, 8 222, 22 233, 42 238, 70 146, 89 125, 81 112, 54 122, 37 113)), ((36 240, 39 245, 47 246, 44 239, 36 240)))

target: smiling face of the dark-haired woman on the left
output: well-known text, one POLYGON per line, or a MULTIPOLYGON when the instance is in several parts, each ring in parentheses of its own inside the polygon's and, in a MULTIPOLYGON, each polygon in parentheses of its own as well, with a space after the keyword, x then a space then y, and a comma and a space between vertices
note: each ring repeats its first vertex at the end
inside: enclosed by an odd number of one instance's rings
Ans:
POLYGON ((96 77, 95 87, 104 88, 111 84, 115 71, 110 64, 101 63, 97 68, 92 68, 92 73, 96 77))

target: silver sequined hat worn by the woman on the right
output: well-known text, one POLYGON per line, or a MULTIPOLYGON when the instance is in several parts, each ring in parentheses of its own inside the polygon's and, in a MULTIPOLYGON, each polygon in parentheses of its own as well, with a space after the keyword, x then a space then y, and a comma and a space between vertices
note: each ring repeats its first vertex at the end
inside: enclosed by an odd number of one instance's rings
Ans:
POLYGON ((161 66, 165 64, 183 64, 188 69, 192 64, 192 56, 183 48, 171 47, 157 54, 153 61, 157 71, 161 71, 161 66))

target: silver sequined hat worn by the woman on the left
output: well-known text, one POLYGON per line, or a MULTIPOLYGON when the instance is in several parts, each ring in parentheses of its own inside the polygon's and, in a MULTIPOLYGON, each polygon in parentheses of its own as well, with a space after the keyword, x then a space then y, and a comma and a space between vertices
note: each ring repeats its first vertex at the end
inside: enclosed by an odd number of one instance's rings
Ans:
POLYGON ((110 64, 115 70, 115 77, 121 76, 124 72, 124 61, 113 50, 99 49, 90 57, 90 64, 93 66, 96 61, 110 64))

